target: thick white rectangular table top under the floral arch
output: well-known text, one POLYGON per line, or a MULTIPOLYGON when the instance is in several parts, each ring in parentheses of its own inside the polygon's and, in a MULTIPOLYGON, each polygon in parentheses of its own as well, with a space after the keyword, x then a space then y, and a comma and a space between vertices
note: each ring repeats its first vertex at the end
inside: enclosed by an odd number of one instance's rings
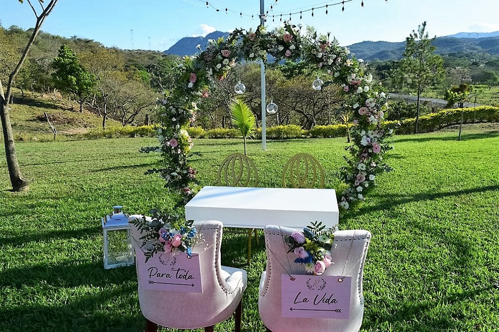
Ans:
POLYGON ((334 189, 205 186, 187 203, 186 219, 220 220, 224 227, 304 228, 312 221, 338 224, 334 189))

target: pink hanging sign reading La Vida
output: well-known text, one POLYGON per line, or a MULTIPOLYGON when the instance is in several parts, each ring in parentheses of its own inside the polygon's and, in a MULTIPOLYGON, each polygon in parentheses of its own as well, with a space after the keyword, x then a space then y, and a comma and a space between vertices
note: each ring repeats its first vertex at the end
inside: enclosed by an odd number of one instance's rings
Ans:
POLYGON ((281 275, 282 317, 350 317, 352 277, 281 275))

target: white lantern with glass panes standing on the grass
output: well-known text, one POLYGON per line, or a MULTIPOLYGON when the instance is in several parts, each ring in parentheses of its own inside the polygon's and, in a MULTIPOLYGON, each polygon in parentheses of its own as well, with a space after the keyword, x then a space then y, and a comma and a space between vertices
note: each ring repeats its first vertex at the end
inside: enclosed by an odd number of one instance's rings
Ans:
POLYGON ((133 265, 135 252, 132 245, 132 231, 128 215, 122 206, 114 206, 113 213, 102 218, 104 236, 104 269, 133 265))

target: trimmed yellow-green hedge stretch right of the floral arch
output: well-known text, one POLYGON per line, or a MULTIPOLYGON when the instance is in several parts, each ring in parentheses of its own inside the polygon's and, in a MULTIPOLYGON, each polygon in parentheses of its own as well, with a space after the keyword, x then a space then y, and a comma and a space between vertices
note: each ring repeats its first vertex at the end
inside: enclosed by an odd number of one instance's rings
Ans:
MULTIPOLYGON (((459 124, 461 122, 461 114, 463 115, 463 123, 499 122, 499 107, 453 108, 419 117, 418 133, 433 132, 450 125, 459 124)), ((412 134, 416 119, 384 122, 389 127, 395 127, 398 123, 400 123, 400 126, 395 130, 397 134, 412 134)))

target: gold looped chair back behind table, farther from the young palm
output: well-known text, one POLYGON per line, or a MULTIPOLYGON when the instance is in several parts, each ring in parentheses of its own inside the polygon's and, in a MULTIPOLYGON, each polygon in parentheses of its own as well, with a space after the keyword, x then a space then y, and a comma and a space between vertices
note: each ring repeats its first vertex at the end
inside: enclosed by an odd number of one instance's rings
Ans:
POLYGON ((324 169, 313 156, 296 154, 282 170, 284 188, 324 188, 324 169))

